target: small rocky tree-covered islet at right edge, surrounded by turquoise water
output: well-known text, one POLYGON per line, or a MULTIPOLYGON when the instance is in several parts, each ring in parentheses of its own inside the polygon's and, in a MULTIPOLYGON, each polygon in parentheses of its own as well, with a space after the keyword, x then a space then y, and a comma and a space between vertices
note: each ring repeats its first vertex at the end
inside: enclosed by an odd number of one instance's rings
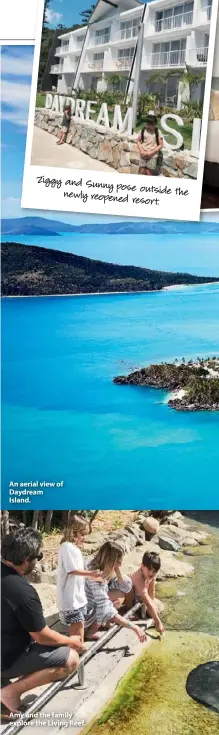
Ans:
POLYGON ((119 385, 171 391, 168 405, 178 411, 219 411, 219 358, 161 363, 114 378, 119 385))

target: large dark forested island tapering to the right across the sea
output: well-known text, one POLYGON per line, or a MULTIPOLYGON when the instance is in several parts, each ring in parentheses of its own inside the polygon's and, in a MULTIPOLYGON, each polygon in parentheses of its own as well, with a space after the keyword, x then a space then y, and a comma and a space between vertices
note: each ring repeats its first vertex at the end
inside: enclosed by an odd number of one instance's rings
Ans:
POLYGON ((2 296, 134 293, 218 280, 104 263, 34 245, 2 243, 2 296))

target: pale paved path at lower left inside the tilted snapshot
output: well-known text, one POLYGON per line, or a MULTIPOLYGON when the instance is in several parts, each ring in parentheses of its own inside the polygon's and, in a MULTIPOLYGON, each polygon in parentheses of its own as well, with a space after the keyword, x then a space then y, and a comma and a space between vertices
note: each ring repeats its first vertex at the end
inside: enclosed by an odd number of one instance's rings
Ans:
POLYGON ((31 163, 34 166, 56 166, 57 168, 77 168, 89 171, 106 171, 113 169, 103 161, 87 156, 72 145, 57 145, 55 135, 46 130, 34 127, 31 163))

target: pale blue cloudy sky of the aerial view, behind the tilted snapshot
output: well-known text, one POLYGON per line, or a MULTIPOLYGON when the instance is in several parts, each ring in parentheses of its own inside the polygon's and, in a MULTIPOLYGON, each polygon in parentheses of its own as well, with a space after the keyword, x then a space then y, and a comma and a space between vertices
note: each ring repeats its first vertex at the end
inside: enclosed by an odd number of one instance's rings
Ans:
MULTIPOLYGON (((21 190, 28 122, 33 46, 2 47, 2 217, 38 215, 84 224, 118 221, 105 215, 46 212, 21 209, 21 190)), ((120 217, 125 221, 125 217, 120 217)), ((208 212, 202 219, 219 221, 219 212, 208 212)), ((130 221, 130 219, 128 218, 130 221)))

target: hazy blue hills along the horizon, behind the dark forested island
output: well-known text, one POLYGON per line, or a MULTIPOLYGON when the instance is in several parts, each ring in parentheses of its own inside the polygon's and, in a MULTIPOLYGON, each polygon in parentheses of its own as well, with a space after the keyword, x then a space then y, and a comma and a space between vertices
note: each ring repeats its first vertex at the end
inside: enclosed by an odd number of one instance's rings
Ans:
POLYGON ((47 217, 12 217, 3 218, 2 235, 42 235, 43 237, 61 236, 62 234, 106 234, 106 235, 218 235, 219 222, 177 222, 167 220, 119 220, 116 222, 88 222, 84 225, 71 225, 58 219, 47 217))

